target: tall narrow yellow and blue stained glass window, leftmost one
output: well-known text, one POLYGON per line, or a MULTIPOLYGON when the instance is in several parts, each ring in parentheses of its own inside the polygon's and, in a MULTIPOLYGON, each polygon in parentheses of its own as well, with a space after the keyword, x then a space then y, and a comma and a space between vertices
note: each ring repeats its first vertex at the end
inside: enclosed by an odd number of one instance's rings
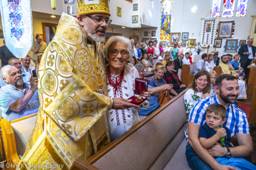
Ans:
POLYGON ((162 16, 161 16, 161 40, 170 40, 172 18, 172 0, 164 0, 162 3, 162 16))

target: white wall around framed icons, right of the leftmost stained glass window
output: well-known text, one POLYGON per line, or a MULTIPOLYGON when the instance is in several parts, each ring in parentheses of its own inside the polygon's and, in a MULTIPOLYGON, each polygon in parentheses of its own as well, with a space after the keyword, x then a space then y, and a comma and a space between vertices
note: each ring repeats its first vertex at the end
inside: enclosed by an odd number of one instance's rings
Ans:
MULTIPOLYGON (((237 2, 237 1, 236 1, 237 2)), ((189 38, 196 38, 196 42, 201 42, 202 36, 202 25, 201 18, 210 17, 209 12, 211 11, 212 0, 173 0, 173 12, 172 12, 172 25, 171 32, 189 32, 189 38), (191 8, 196 6, 198 10, 196 13, 191 12, 191 8), (199 36, 199 32, 201 34, 199 36)), ((256 12, 255 11, 256 1, 249 1, 246 17, 230 17, 230 18, 218 18, 216 23, 219 21, 231 21, 235 20, 235 32, 234 39, 247 39, 248 32, 250 31, 250 20, 251 16, 256 12)), ((236 6, 235 6, 236 9, 236 6)), ((222 10, 221 10, 222 11, 222 10)), ((235 15, 235 14, 234 14, 235 15)), ((202 22, 203 23, 203 22, 202 22)), ((159 25, 160 27, 160 25, 159 25)), ((180 35, 181 35, 180 34, 180 35)), ((229 38, 230 39, 230 38, 229 38)), ((223 55, 223 46, 226 42, 226 39, 222 39, 221 48, 216 48, 216 51, 219 52, 219 56, 223 55)), ((191 50, 195 53, 195 48, 184 48, 184 52, 191 50)), ((214 52, 213 46, 210 46, 209 53, 214 52)), ((204 49, 202 53, 207 53, 207 49, 204 49)), ((234 54, 234 53, 231 53, 234 54)))

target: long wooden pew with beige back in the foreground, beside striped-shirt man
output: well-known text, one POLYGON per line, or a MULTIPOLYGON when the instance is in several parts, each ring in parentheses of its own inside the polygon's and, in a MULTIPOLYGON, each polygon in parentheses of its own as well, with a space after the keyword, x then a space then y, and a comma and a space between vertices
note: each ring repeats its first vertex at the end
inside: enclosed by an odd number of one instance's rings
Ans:
POLYGON ((185 92, 86 160, 90 167, 76 160, 71 169, 190 169, 185 155, 185 92))

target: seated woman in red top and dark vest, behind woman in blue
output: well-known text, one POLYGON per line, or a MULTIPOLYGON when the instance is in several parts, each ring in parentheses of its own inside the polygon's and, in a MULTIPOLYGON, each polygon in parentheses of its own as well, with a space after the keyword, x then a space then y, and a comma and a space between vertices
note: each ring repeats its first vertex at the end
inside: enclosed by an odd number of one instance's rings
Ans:
POLYGON ((179 78, 173 73, 174 67, 175 67, 175 63, 170 60, 167 62, 166 64, 166 73, 164 73, 164 80, 166 81, 166 83, 168 84, 172 84, 173 85, 173 90, 175 90, 175 92, 177 92, 177 94, 179 94, 180 92, 182 92, 183 90, 186 89, 186 85, 184 85, 179 78))

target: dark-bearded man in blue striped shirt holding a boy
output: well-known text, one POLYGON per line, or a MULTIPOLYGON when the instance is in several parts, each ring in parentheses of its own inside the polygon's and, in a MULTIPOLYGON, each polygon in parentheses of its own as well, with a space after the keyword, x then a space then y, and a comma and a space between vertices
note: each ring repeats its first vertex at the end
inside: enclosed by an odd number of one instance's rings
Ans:
POLYGON ((253 143, 250 136, 249 124, 243 110, 234 104, 239 95, 239 85, 235 76, 222 74, 215 82, 216 96, 199 101, 189 115, 188 145, 186 157, 191 169, 236 169, 220 165, 214 157, 248 157, 252 154, 253 143), (230 130, 231 138, 236 134, 239 146, 223 148, 219 143, 206 150, 200 144, 198 133, 201 125, 205 124, 205 111, 210 104, 222 104, 227 110, 227 121, 223 126, 230 130))

